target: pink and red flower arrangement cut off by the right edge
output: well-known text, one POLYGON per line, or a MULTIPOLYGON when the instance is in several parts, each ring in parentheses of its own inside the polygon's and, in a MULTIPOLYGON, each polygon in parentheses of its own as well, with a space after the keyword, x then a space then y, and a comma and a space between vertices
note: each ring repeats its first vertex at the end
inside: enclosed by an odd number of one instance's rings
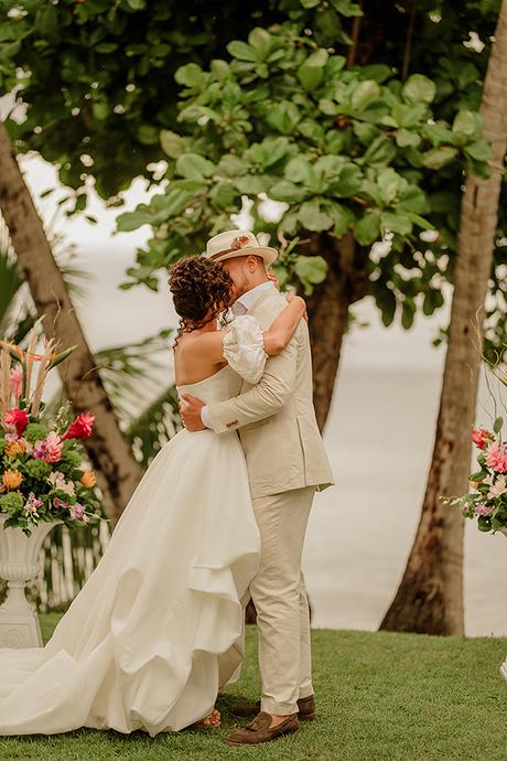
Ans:
MULTIPOLYGON (((507 386, 507 375, 496 374, 507 386)), ((481 532, 507 530, 507 444, 503 440, 504 420, 497 417, 492 430, 472 429, 472 441, 478 449, 478 470, 470 476, 470 492, 462 496, 442 497, 456 505, 465 518, 477 519, 481 532)))

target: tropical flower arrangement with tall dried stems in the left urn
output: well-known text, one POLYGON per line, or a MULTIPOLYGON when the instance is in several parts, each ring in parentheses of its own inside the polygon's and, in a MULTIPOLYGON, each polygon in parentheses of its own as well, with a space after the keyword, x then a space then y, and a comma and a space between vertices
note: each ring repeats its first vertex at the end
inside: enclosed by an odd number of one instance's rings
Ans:
POLYGON ((42 401, 47 373, 75 347, 55 354, 51 340, 39 355, 35 344, 35 329, 26 352, 0 341, 0 514, 9 516, 4 528, 28 536, 41 522, 73 528, 99 517, 96 476, 84 464, 82 444, 95 418, 84 412, 71 419, 68 403, 51 418, 42 401))

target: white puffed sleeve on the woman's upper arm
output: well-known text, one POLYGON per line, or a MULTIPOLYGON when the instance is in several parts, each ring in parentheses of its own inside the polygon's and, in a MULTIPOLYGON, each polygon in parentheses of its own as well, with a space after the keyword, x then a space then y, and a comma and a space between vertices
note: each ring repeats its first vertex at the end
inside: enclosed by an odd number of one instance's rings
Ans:
POLYGON ((245 380, 259 383, 268 355, 260 325, 251 314, 237 317, 228 325, 224 335, 224 358, 245 380))

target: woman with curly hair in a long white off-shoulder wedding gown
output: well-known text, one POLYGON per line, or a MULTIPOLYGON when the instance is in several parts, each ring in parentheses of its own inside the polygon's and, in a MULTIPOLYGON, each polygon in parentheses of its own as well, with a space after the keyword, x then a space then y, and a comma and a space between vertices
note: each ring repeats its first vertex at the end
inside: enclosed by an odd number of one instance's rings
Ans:
MULTIPOLYGON (((218 264, 170 272, 180 314, 180 392, 207 403, 257 383, 304 315, 292 298, 269 330, 252 317, 218 330, 233 282, 218 264)), ((238 678, 242 604, 259 534, 236 432, 181 430, 131 496, 95 571, 45 647, 0 650, 0 735, 78 727, 150 736, 217 724, 218 690, 238 678)))

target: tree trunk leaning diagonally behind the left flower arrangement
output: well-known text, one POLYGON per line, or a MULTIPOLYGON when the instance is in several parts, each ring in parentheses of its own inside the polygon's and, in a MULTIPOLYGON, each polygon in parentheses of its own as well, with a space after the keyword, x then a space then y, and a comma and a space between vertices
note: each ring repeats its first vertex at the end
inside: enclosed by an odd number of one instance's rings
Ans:
POLYGON ((44 317, 46 336, 54 335, 61 349, 77 345, 69 358, 58 365, 58 371, 74 411, 89 410, 96 416, 94 436, 85 440, 85 444, 97 471, 106 512, 116 523, 141 478, 141 468, 118 427, 9 135, 1 122, 0 210, 37 314, 44 317))

